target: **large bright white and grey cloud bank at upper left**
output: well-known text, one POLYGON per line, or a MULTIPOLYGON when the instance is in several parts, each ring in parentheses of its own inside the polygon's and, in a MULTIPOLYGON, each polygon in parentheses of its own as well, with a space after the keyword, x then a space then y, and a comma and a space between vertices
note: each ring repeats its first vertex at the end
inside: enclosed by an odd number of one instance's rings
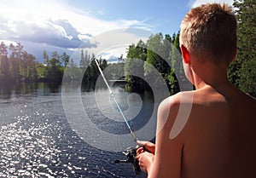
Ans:
MULTIPOLYGON (((64 0, 3 0, 0 6, 0 41, 11 40, 56 48, 95 47, 90 38, 113 29, 140 26, 138 20, 101 20, 90 12, 75 8, 64 0)), ((103 12, 98 12, 103 14, 103 12)), ((27 47, 30 48, 30 47, 27 47)), ((28 51, 30 52, 30 51, 28 51)), ((31 53, 31 52, 30 52, 31 53)))

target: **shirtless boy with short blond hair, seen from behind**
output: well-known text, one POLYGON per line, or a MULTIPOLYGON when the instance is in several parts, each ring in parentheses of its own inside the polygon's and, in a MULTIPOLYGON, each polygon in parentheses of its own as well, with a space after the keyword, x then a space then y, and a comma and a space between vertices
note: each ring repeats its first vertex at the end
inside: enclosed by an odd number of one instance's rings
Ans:
POLYGON ((256 177, 256 100, 227 78, 236 57, 231 8, 208 3, 191 9, 181 24, 180 44, 195 91, 172 95, 160 104, 155 145, 138 141, 148 150, 137 149, 141 169, 155 178, 256 177), (189 118, 172 136, 178 112, 183 112, 180 106, 191 106, 189 118))

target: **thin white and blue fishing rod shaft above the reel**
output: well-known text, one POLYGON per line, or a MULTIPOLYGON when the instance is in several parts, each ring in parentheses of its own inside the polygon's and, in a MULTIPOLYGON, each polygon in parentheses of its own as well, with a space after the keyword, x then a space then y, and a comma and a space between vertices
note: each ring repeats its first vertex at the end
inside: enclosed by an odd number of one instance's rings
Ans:
POLYGON ((109 85, 108 85, 108 82, 107 82, 107 80, 106 80, 106 78, 105 78, 105 76, 104 76, 104 74, 103 74, 103 72, 102 72, 102 69, 101 69, 101 67, 100 67, 100 65, 99 65, 99 63, 98 63, 98 61, 97 61, 96 59, 95 59, 95 61, 96 61, 96 66, 98 67, 99 72, 101 73, 102 78, 103 78, 104 82, 106 83, 106 85, 107 85, 107 87, 108 87, 109 93, 110 93, 110 95, 111 95, 112 98, 113 98, 113 101, 115 102, 116 106, 118 107, 119 112, 121 113, 122 117, 123 117, 124 120, 125 120, 125 123, 126 123, 128 129, 130 130, 131 137, 132 137, 133 141, 137 142, 137 136, 136 136, 135 133, 132 131, 130 124, 128 123, 127 119, 125 118, 124 112, 122 111, 121 107, 119 106, 118 101, 115 99, 115 97, 114 97, 114 95, 113 95, 113 91, 112 91, 112 89, 110 89, 110 87, 109 87, 109 85))

